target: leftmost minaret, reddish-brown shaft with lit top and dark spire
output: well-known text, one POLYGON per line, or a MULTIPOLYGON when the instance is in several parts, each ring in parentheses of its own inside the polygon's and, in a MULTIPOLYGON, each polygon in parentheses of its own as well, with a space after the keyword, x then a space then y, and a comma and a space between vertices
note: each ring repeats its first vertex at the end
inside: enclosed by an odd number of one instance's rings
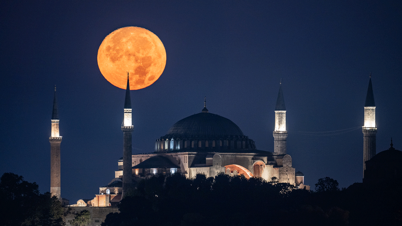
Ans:
POLYGON ((62 199, 60 192, 60 143, 59 113, 57 111, 56 85, 54 86, 53 113, 51 115, 50 142, 50 193, 58 199, 62 199))

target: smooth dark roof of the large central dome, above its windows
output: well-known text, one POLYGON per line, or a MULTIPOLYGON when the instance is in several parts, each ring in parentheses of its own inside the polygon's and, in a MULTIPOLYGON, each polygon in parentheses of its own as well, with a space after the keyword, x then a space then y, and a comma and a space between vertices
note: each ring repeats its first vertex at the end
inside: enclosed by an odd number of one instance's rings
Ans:
POLYGON ((208 112, 191 115, 174 123, 167 137, 230 138, 244 136, 242 130, 229 119, 208 112))

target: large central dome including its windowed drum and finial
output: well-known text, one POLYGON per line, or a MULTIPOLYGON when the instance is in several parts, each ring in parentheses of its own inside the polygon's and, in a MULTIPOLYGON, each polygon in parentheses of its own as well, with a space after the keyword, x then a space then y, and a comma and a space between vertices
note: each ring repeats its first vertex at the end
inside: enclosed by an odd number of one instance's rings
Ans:
POLYGON ((255 149, 253 140, 230 119, 209 113, 204 105, 201 113, 174 123, 165 136, 156 140, 156 152, 255 149))

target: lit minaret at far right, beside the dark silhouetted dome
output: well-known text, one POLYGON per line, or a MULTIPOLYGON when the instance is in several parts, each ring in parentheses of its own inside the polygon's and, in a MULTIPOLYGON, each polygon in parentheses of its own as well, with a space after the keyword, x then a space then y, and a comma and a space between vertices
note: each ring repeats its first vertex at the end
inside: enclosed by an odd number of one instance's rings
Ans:
MULTIPOLYGON (((375 156, 375 134, 377 126, 375 125, 375 103, 373 95, 373 86, 371 84, 371 73, 369 88, 367 89, 366 102, 364 104, 364 126, 363 131, 363 175, 366 169, 366 161, 375 156)), ((363 176, 364 177, 364 176, 363 176)))

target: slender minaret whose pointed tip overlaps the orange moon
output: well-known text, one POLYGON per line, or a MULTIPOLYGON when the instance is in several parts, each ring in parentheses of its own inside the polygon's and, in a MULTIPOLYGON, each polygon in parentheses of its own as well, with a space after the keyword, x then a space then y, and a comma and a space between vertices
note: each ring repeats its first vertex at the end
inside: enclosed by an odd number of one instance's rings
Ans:
POLYGON ((124 121, 121 126, 123 131, 123 193, 121 198, 124 197, 125 192, 131 187, 133 183, 132 173, 132 156, 131 156, 131 133, 134 130, 134 126, 131 123, 131 98, 130 98, 130 84, 128 80, 127 72, 127 88, 124 101, 124 121))

